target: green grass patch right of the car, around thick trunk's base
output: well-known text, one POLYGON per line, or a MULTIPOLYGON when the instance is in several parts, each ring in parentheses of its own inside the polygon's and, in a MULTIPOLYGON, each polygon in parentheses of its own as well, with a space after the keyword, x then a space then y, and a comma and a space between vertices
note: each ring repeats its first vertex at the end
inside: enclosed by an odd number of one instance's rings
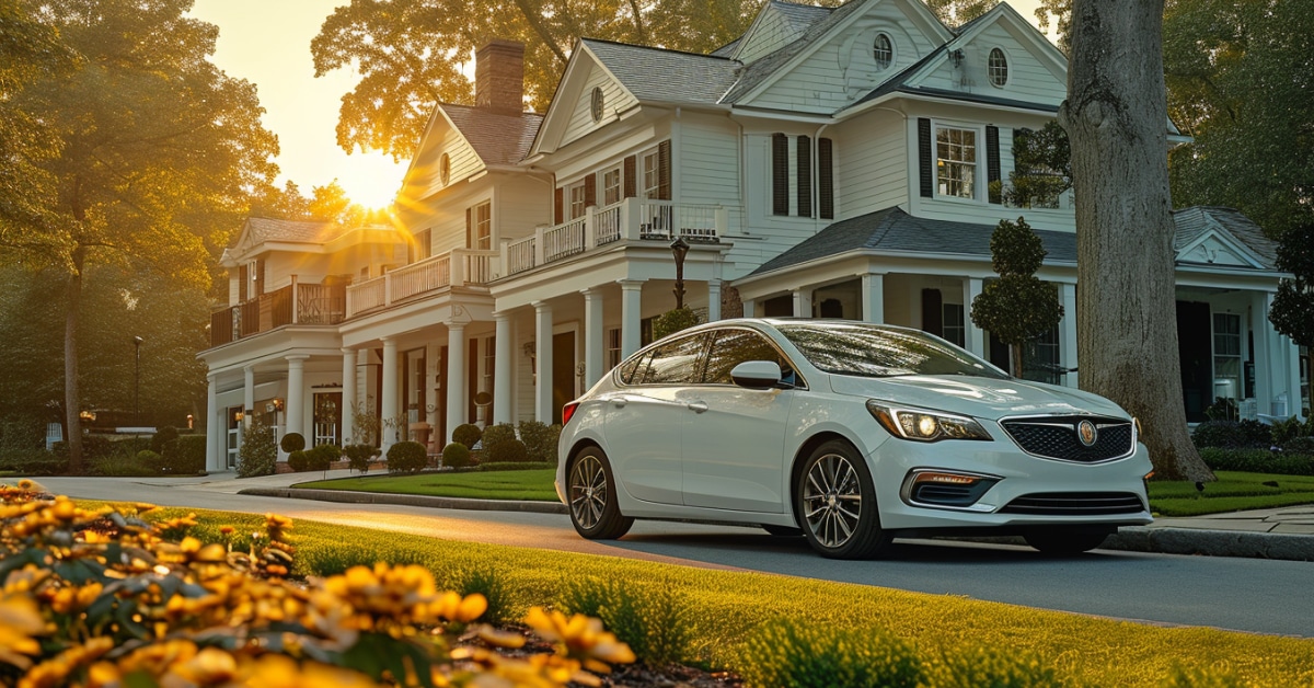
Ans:
POLYGON ((1215 471, 1214 475, 1218 481, 1206 483, 1204 492, 1197 491, 1194 483, 1151 481, 1151 510, 1159 516, 1202 516, 1314 504, 1314 476, 1235 471, 1215 471))

